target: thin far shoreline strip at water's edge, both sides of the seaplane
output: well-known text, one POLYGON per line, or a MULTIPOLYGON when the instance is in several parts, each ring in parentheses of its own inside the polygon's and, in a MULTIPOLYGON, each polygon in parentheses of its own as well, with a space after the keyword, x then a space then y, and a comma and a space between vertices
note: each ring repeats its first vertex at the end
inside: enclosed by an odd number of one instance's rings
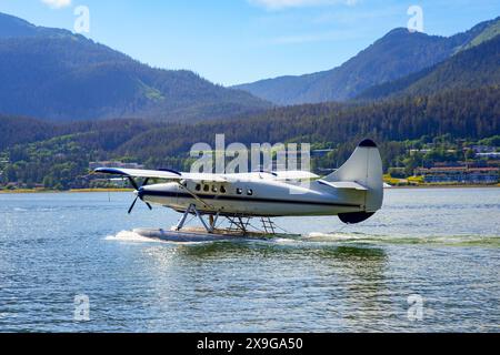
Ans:
MULTIPOLYGON (((500 187, 500 184, 496 185, 481 185, 481 184, 436 184, 436 185, 394 185, 390 187, 386 187, 384 190, 423 190, 423 189, 491 189, 491 187, 500 187)), ((0 190, 0 194, 31 194, 31 193, 119 193, 119 192, 133 192, 133 189, 72 189, 72 190, 36 190, 36 189, 20 189, 20 190, 0 190)))

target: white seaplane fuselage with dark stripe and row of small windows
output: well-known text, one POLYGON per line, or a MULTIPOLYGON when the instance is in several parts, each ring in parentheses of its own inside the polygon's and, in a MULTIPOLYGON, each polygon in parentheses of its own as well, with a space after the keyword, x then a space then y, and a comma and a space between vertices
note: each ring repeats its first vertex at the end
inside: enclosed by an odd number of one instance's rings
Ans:
POLYGON ((364 191, 336 190, 318 181, 309 185, 263 179, 230 183, 184 181, 148 185, 137 194, 144 202, 179 212, 194 205, 202 213, 220 215, 337 215, 364 211, 364 191))

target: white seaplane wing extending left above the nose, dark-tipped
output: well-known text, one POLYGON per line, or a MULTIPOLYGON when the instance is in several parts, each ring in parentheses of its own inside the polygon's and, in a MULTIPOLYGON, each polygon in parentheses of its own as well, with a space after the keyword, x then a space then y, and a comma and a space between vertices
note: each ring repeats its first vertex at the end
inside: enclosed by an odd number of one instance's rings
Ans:
POLYGON ((164 180, 192 180, 209 182, 226 182, 227 180, 218 174, 203 173, 180 173, 174 170, 141 170, 141 169, 118 169, 118 168, 98 168, 94 170, 98 174, 122 175, 127 178, 150 178, 164 180))

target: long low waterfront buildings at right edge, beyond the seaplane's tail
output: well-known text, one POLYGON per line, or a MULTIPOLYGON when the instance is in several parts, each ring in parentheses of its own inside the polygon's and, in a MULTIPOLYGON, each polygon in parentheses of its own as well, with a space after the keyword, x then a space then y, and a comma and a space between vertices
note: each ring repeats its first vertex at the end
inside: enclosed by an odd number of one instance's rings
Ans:
POLYGON ((417 176, 422 176, 426 183, 461 183, 461 184, 496 184, 499 182, 499 168, 419 168, 417 176))

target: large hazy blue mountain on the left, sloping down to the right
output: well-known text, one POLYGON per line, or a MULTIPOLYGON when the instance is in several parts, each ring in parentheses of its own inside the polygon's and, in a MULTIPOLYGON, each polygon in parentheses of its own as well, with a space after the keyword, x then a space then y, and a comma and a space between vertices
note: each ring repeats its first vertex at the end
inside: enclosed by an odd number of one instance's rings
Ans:
POLYGON ((0 13, 1 113, 54 121, 192 121, 268 108, 193 72, 153 69, 82 36, 0 13))

